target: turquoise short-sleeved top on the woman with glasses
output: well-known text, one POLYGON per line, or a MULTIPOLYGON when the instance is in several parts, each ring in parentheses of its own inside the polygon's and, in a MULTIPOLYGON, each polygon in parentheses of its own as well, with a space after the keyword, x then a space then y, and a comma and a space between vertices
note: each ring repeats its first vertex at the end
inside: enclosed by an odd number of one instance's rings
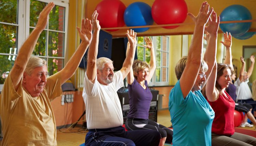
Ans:
POLYGON ((180 80, 170 92, 173 146, 211 146, 214 111, 200 91, 194 93, 190 91, 184 99, 180 80))

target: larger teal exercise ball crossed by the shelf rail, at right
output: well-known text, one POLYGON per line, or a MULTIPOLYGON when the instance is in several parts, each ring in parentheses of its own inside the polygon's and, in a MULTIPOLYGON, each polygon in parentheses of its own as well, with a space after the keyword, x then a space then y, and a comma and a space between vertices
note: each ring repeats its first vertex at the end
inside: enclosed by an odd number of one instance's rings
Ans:
MULTIPOLYGON (((230 5, 226 7, 221 15, 221 21, 251 20, 250 11, 242 5, 230 5)), ((241 36, 245 34, 251 27, 252 22, 246 23, 225 23, 219 24, 221 30, 226 33, 230 32, 232 36, 241 36)))

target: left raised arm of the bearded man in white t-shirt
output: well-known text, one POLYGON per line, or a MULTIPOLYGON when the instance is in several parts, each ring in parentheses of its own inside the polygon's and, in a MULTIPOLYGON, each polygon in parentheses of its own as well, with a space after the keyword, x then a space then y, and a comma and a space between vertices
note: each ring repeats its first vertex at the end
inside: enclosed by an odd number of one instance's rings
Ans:
POLYGON ((97 55, 98 55, 98 45, 99 45, 99 34, 100 34, 100 23, 97 20, 98 13, 94 11, 92 16, 93 22, 93 40, 91 41, 91 45, 88 50, 88 57, 87 57, 87 68, 86 68, 86 75, 88 79, 94 83, 95 78, 97 75, 97 55))

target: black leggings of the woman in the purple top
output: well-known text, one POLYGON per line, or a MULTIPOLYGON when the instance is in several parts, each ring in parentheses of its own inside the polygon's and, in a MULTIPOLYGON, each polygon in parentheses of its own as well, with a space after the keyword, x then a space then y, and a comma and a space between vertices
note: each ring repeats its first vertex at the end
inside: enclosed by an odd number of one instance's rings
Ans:
POLYGON ((141 118, 127 118, 125 123, 125 128, 130 130, 157 130, 161 134, 161 138, 166 137, 166 141, 172 142, 173 131, 163 125, 160 125, 150 119, 141 119, 141 118))

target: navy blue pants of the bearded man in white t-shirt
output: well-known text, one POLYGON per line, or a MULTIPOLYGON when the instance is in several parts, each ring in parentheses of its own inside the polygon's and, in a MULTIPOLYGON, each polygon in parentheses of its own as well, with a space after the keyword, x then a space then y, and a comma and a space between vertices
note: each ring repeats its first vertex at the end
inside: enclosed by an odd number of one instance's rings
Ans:
POLYGON ((85 146, 158 146, 160 133, 155 130, 125 131, 122 126, 90 129, 85 146))

